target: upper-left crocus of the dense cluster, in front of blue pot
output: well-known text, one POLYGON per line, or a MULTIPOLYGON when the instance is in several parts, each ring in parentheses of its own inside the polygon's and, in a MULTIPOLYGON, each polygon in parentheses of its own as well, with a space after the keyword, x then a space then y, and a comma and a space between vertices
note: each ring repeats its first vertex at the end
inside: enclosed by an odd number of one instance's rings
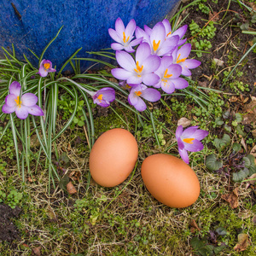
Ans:
POLYGON ((115 30, 113 30, 113 28, 108 29, 110 37, 117 42, 111 44, 111 48, 114 50, 125 49, 127 52, 134 52, 135 50, 132 49, 132 47, 140 44, 142 41, 142 38, 132 40, 134 38, 133 33, 135 31, 135 28, 135 20, 130 20, 128 25, 125 27, 123 20, 118 18, 115 21, 115 30))

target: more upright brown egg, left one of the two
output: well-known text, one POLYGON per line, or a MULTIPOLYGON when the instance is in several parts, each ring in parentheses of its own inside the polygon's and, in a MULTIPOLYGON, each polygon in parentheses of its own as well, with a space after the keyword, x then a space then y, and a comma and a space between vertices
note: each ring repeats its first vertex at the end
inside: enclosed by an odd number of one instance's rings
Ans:
POLYGON ((101 186, 114 187, 130 175, 137 154, 137 141, 130 131, 121 128, 106 131, 90 151, 91 177, 101 186))

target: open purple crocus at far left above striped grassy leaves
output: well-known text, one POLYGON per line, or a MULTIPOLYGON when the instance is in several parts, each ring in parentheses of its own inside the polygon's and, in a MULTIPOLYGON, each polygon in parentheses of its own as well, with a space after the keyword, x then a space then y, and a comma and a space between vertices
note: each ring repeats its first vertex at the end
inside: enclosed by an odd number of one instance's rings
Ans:
POLYGON ((3 105, 3 113, 15 112, 19 119, 26 119, 28 114, 44 115, 41 108, 36 105, 38 97, 32 93, 25 93, 20 96, 21 85, 18 82, 13 82, 9 86, 9 95, 5 98, 3 105))

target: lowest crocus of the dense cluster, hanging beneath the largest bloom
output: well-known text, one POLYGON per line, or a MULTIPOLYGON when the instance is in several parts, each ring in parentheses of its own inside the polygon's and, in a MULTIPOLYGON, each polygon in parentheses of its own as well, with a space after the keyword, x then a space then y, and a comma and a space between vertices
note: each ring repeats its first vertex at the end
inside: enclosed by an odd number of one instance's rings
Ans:
POLYGON ((141 97, 148 102, 157 102, 160 100, 161 95, 158 90, 148 88, 144 84, 137 84, 136 86, 131 87, 128 102, 138 111, 144 111, 147 108, 146 103, 141 97))

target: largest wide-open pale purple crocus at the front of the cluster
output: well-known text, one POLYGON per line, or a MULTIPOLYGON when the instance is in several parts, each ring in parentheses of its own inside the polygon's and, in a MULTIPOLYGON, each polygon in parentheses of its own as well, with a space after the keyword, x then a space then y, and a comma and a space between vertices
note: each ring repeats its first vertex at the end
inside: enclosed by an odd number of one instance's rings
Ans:
POLYGON ((154 85, 158 82, 159 76, 154 73, 160 66, 160 57, 151 55, 147 43, 140 44, 137 48, 135 61, 125 51, 116 51, 116 60, 120 67, 113 68, 113 77, 125 80, 127 84, 154 85))

